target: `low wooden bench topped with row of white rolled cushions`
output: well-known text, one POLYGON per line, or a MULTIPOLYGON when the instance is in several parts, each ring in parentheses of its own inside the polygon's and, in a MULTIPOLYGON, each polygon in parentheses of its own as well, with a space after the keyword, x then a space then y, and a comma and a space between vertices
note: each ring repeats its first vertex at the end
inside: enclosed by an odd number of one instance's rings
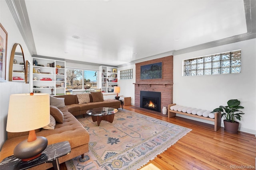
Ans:
POLYGON ((192 107, 185 107, 176 104, 169 104, 168 105, 168 117, 176 117, 176 113, 191 117, 196 117, 199 119, 204 119, 208 121, 214 122, 214 131, 218 131, 221 126, 221 113, 215 112, 210 113, 211 111, 203 110, 203 109, 196 109, 192 107))

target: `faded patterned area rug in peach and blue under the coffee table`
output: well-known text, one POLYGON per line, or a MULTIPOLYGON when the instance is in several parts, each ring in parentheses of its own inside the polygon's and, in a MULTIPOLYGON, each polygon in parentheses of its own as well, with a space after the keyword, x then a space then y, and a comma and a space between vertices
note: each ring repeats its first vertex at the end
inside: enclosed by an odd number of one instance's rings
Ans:
POLYGON ((99 127, 90 116, 77 119, 90 133, 89 152, 66 161, 68 170, 136 170, 191 131, 125 109, 99 127))

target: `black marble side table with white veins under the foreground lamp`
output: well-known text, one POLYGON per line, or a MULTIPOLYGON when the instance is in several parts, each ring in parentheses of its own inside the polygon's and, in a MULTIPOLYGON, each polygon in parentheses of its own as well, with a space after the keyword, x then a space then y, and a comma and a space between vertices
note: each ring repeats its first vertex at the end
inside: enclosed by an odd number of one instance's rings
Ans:
POLYGON ((60 170, 58 158, 67 155, 70 152, 71 148, 68 141, 54 143, 48 145, 38 158, 25 162, 12 155, 4 158, 0 163, 0 167, 1 170, 26 170, 43 163, 52 163, 54 170, 60 170))

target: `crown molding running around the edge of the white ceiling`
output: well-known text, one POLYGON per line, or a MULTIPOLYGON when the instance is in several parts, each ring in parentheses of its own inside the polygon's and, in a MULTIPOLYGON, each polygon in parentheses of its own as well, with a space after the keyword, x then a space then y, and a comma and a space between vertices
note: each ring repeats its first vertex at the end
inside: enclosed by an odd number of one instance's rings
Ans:
MULTIPOLYGON (((34 37, 32 34, 32 29, 30 26, 29 18, 28 18, 28 12, 26 9, 25 0, 6 0, 6 3, 9 7, 10 12, 12 13, 12 16, 18 26, 18 29, 20 30, 20 33, 28 47, 30 55, 32 57, 39 57, 40 55, 37 55, 37 52, 36 52, 36 46, 34 43, 34 37)), ((244 0, 244 11, 245 11, 245 18, 246 18, 247 33, 235 35, 232 37, 228 37, 225 39, 220 39, 220 40, 216 40, 216 41, 212 41, 212 42, 208 42, 208 43, 204 43, 204 44, 200 44, 200 45, 195 45, 195 46, 184 48, 184 49, 173 50, 173 51, 168 51, 165 53, 160 53, 157 55, 144 57, 142 59, 130 61, 129 63, 121 64, 116 67, 128 66, 128 65, 135 64, 135 63, 158 59, 158 58, 162 58, 162 57, 166 57, 166 56, 170 56, 170 55, 181 55, 184 53, 190 53, 190 52, 194 52, 194 51, 198 51, 198 50, 209 49, 212 47, 218 47, 221 45, 236 43, 239 41, 254 39, 254 38, 256 38, 256 1, 255 0, 244 0)), ((40 56, 40 57, 48 58, 48 59, 56 59, 54 57, 46 57, 46 56, 40 56)), ((61 59, 58 58, 56 60, 61 60, 61 59)), ((74 60, 64 60, 64 61, 69 62, 69 63, 86 64, 86 65, 93 65, 93 66, 101 65, 101 64, 97 64, 97 63, 87 63, 87 62, 74 61, 74 60)))

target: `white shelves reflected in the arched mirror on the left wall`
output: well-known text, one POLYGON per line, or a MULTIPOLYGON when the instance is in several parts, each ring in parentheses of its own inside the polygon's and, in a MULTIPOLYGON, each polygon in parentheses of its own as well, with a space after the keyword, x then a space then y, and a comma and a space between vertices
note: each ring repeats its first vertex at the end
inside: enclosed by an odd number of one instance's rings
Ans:
POLYGON ((22 55, 14 55, 13 67, 12 67, 12 81, 13 82, 25 82, 25 70, 24 61, 22 55), (15 61, 15 64, 14 64, 15 61), (22 63, 22 64, 20 64, 22 63), (15 80, 14 77, 20 77, 23 80, 15 80))

